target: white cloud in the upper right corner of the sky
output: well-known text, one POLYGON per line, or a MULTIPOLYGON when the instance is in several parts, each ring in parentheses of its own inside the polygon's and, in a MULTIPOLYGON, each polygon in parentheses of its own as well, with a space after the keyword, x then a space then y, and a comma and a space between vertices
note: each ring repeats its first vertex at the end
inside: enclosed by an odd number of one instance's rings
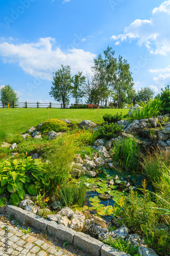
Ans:
POLYGON ((170 0, 165 1, 152 12, 150 19, 136 19, 123 34, 113 35, 111 39, 120 41, 137 40, 139 46, 145 45, 152 54, 165 55, 170 51, 170 0))

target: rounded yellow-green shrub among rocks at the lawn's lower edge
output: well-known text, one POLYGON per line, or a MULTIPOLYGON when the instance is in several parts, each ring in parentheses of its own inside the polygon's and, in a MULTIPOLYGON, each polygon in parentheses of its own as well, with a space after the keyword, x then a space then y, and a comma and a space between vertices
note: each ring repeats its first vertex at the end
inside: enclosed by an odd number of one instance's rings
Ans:
POLYGON ((59 119, 50 119, 45 122, 43 122, 41 126, 41 131, 43 133, 54 131, 56 133, 61 132, 63 130, 66 130, 67 124, 64 121, 61 121, 59 119))

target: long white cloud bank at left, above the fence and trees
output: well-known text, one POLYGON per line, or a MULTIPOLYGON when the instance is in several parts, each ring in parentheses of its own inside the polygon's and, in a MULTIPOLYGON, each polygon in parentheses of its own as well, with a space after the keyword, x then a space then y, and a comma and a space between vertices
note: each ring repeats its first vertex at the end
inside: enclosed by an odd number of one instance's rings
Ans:
POLYGON ((63 52, 59 47, 54 48, 55 39, 40 38, 37 42, 24 44, 0 43, 0 57, 4 63, 18 63, 18 66, 32 76, 51 80, 53 72, 61 65, 70 65, 71 72, 78 70, 90 71, 95 54, 81 49, 71 49, 63 52))

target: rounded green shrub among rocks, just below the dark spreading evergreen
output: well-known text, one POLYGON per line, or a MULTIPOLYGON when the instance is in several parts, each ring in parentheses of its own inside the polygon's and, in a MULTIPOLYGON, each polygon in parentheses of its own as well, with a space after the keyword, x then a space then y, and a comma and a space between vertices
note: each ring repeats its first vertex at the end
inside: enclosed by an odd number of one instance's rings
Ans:
POLYGON ((97 130, 99 138, 113 138, 116 137, 119 133, 123 132, 124 126, 120 126, 117 123, 109 123, 106 122, 103 126, 100 126, 97 130))

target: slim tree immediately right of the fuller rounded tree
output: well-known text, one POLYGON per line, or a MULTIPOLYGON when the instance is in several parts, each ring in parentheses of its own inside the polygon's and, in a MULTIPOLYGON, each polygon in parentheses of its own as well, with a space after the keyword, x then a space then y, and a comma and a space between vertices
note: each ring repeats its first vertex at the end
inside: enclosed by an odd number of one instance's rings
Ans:
POLYGON ((78 72, 74 77, 72 77, 72 97, 76 99, 76 105, 80 103, 80 99, 83 97, 82 86, 85 84, 86 77, 82 76, 82 72, 78 72))

